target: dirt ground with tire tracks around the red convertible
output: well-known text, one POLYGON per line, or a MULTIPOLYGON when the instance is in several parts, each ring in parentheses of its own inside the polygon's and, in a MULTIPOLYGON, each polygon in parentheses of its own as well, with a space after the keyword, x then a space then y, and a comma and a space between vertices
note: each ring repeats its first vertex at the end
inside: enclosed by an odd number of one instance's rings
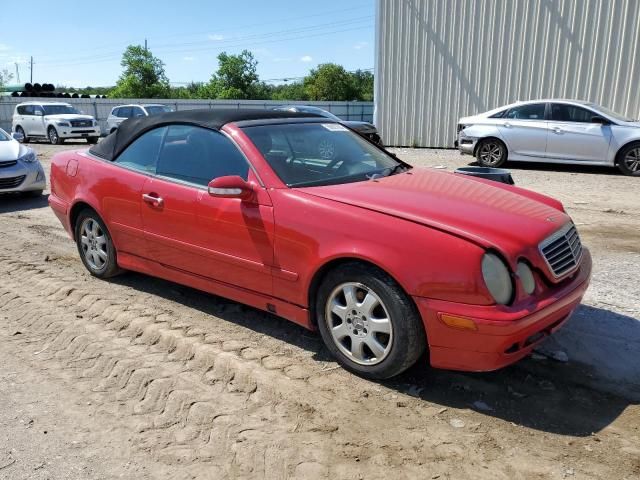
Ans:
MULTIPOLYGON (((47 171, 74 147, 35 145, 47 171)), ((268 314, 134 273, 94 279, 46 196, 0 198, 0 478, 640 478, 640 179, 510 167, 565 203, 594 256, 585 306, 553 340, 569 361, 422 363, 383 383, 268 314)))

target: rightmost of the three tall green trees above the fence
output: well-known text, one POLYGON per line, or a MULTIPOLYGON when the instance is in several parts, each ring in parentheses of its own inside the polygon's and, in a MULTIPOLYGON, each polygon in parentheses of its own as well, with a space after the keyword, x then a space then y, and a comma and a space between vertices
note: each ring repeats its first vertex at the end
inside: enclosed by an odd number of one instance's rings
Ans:
POLYGON ((354 100, 357 92, 351 74, 343 66, 324 63, 311 70, 304 79, 304 91, 309 100, 354 100))

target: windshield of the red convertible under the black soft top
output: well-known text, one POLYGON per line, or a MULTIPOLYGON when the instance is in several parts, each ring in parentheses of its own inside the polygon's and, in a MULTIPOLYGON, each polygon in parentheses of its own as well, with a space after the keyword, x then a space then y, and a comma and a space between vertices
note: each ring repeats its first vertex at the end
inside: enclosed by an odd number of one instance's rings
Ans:
POLYGON ((411 168, 338 123, 262 125, 244 132, 290 187, 359 182, 411 168))

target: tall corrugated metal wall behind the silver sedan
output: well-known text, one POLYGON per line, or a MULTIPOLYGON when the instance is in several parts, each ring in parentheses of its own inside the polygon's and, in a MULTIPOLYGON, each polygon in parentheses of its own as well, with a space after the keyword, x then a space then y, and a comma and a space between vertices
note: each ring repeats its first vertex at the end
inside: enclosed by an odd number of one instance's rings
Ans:
POLYGON ((590 100, 640 117, 640 0, 378 0, 376 124, 453 147, 459 117, 590 100))

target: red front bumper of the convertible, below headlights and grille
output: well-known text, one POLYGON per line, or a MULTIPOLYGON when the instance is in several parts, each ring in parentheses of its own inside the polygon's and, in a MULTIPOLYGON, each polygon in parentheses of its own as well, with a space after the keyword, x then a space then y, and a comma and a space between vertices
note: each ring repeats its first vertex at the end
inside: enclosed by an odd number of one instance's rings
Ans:
POLYGON ((585 248, 580 268, 571 279, 526 305, 481 306, 414 297, 427 332, 431 365, 481 372, 520 360, 571 316, 590 277, 591 254, 585 248), (477 330, 447 326, 440 314, 472 319, 477 330))

